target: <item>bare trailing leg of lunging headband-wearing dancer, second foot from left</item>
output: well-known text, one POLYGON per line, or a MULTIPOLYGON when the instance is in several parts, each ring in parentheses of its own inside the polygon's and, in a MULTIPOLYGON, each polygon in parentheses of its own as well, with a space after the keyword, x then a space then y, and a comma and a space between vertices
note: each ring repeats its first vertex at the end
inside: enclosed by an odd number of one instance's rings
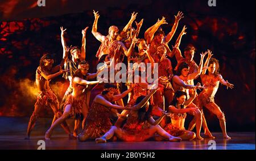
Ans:
MULTIPOLYGON (((71 105, 68 104, 65 106, 65 111, 64 111, 63 115, 61 117, 57 118, 57 120, 52 124, 51 128, 49 128, 47 130, 46 135, 44 135, 44 138, 50 139, 53 129, 57 125, 60 125, 63 121, 65 121, 68 118, 68 116, 70 115, 70 113, 71 113, 71 105)), ((70 133, 70 135, 72 135, 72 134, 70 133)))

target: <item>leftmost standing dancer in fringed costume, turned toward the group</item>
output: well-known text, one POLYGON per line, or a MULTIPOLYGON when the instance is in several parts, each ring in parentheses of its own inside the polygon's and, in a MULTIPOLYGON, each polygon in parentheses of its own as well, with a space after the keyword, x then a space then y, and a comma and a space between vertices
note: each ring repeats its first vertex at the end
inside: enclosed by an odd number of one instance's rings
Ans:
MULTIPOLYGON (((27 137, 25 139, 30 139, 31 130, 34 128, 36 120, 38 120, 39 113, 43 108, 52 108, 54 113, 52 124, 55 122, 56 118, 61 116, 61 111, 59 110, 59 101, 49 86, 49 82, 51 79, 65 72, 65 70, 61 69, 61 67, 64 65, 64 62, 67 59, 68 49, 65 48, 64 51, 65 56, 63 60, 61 61, 60 65, 55 67, 52 67, 53 58, 50 54, 44 54, 40 59, 40 65, 38 69, 36 69, 36 86, 38 87, 39 93, 37 95, 34 112, 32 113, 30 121, 28 122, 27 137)), ((68 134, 70 133, 66 122, 61 124, 61 126, 64 128, 65 132, 68 134)))

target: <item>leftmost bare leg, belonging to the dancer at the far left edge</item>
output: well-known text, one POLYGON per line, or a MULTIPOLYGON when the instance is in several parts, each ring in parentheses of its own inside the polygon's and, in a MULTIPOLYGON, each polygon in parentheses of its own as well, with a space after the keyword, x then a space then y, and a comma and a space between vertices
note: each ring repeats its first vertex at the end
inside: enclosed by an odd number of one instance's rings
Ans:
POLYGON ((30 117, 30 121, 28 122, 27 137, 25 139, 30 139, 31 130, 34 128, 36 120, 38 120, 39 112, 41 111, 41 109, 42 109, 41 105, 39 105, 39 104, 35 105, 34 112, 32 113, 32 115, 30 117))

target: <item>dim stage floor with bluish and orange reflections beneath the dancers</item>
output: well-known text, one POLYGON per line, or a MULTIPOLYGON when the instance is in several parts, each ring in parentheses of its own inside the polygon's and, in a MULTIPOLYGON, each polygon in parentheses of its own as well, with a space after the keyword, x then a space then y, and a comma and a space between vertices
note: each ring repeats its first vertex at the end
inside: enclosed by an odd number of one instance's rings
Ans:
MULTIPOLYGON (((44 132, 49 128, 50 120, 40 118, 31 139, 25 140, 28 118, 0 117, 0 149, 30 149, 36 150, 44 141, 44 132)), ((68 124, 72 126, 72 120, 68 124)), ((213 133, 216 137, 216 150, 255 150, 255 132, 230 132, 232 139, 222 138, 221 133, 213 133)), ((203 134, 202 134, 203 137, 203 134)), ((210 139, 204 141, 145 141, 145 142, 108 142, 95 143, 94 141, 79 142, 69 140, 61 128, 56 128, 51 140, 45 141, 46 150, 52 149, 86 149, 86 150, 207 150, 212 144, 210 139), (208 145, 209 143, 209 145, 208 145)))

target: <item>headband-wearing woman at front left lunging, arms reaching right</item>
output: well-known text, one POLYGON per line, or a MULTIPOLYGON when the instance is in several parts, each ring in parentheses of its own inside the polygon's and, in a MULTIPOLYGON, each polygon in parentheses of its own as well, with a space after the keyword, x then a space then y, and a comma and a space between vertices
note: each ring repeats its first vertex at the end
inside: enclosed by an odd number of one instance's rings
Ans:
POLYGON ((87 62, 82 61, 79 63, 79 69, 76 70, 71 81, 73 92, 71 95, 68 95, 68 98, 65 101, 64 113, 51 125, 51 128, 47 130, 46 135, 44 136, 45 139, 50 139, 53 129, 68 117, 82 115, 82 122, 85 122, 88 113, 88 105, 86 104, 86 93, 84 93, 84 91, 86 91, 85 89, 88 88, 88 85, 99 83, 99 81, 86 81, 88 70, 89 64, 87 62))

